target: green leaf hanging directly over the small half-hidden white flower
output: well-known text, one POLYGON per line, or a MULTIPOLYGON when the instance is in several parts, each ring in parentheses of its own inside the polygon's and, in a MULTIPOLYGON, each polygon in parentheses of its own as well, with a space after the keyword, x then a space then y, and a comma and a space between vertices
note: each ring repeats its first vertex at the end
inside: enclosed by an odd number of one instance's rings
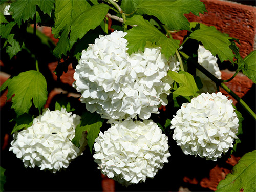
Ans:
POLYGON ((232 38, 221 33, 214 26, 196 30, 192 32, 188 38, 201 41, 205 49, 209 50, 212 55, 218 55, 221 62, 224 60, 233 62, 234 54, 229 48, 231 45, 230 39, 232 38))

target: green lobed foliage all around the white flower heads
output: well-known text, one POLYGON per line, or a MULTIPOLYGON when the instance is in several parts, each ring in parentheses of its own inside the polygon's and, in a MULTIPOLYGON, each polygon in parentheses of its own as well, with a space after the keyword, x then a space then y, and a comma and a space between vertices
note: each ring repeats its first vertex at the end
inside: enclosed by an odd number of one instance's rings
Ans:
MULTIPOLYGON (((0 4, 4 2, 5 0, 1 1, 0 4)), ((171 106, 174 107, 173 112, 182 103, 190 102, 192 97, 198 95, 197 92, 202 87, 200 78, 195 74, 195 70, 198 68, 217 84, 218 89, 222 87, 226 90, 240 101, 254 119, 256 118, 249 106, 225 87, 223 80, 217 79, 197 63, 195 53, 193 55, 182 49, 187 45, 190 46, 190 42, 193 42, 193 47, 201 43, 205 49, 217 56, 220 62, 230 61, 232 65, 238 67, 237 73, 242 71, 254 83, 256 82, 256 51, 251 52, 243 59, 240 56, 239 48, 236 46, 236 42, 239 43, 238 39, 221 33, 213 26, 208 27, 204 24, 188 22, 184 14, 192 13, 199 16, 199 13, 207 12, 204 3, 199 0, 122 0, 117 3, 114 0, 99 2, 96 0, 24 0, 12 1, 10 5, 9 12, 12 12, 11 15, 0 13, 1 52, 4 60, 10 63, 8 65, 12 65, 15 60, 22 62, 19 63, 19 66, 11 66, 15 70, 12 71, 11 78, 0 88, 1 91, 8 88, 7 99, 11 99, 11 108, 16 114, 16 117, 12 117, 11 120, 14 123, 14 126, 11 127, 11 134, 31 126, 33 118, 41 114, 41 109, 44 108, 52 87, 56 86, 48 77, 48 63, 43 62, 42 59, 46 57, 51 58, 51 61, 58 61, 58 67, 55 71, 59 80, 63 72, 67 72, 67 66, 70 63, 75 68, 81 57, 81 52, 87 49, 88 44, 94 43, 99 35, 109 34, 110 29, 127 32, 124 38, 128 42, 127 47, 129 49, 127 52, 129 54, 138 51, 143 52, 146 45, 153 44, 161 47, 161 52, 166 58, 176 55, 181 70, 178 73, 168 72, 168 75, 175 81, 172 85, 172 94, 167 98, 169 103, 173 103, 171 106), (112 26, 109 26, 110 19, 115 20, 112 26), (32 24, 34 25, 33 28, 31 27, 32 24), (52 28, 52 34, 58 39, 56 46, 48 37, 36 30, 37 25, 52 28), (179 40, 172 38, 172 33, 179 30, 187 30, 187 35, 181 45, 179 40), (28 41, 29 37, 32 38, 32 41, 39 37, 41 44, 31 46, 31 42, 28 41), (48 55, 42 54, 42 56, 40 55, 41 50, 35 51, 42 45, 50 49, 48 55)), ((221 65, 221 63, 219 64, 221 65)), ((57 85, 59 86, 59 84, 57 85)), ((66 89, 67 87, 63 86, 62 88, 66 89)), ((67 90, 69 89, 67 88, 67 90)), ((68 112, 81 115, 81 122, 76 127, 72 142, 79 147, 82 133, 86 132, 88 146, 93 152, 95 138, 97 138, 100 129, 104 127, 103 119, 97 113, 88 112, 84 104, 73 105, 74 99, 64 97, 54 103, 55 109, 66 108, 68 112)), ((239 136, 243 133, 241 123, 243 117, 238 111, 236 113, 240 124, 239 136)), ((171 125, 171 119, 169 119, 171 117, 164 120, 160 116, 158 117, 156 123, 158 125, 163 124, 164 126, 161 126, 163 131, 172 137, 167 131, 171 125)), ((236 150, 236 146, 240 142, 241 140, 236 140, 233 150, 236 150)), ((234 173, 229 174, 230 176, 225 181, 220 182, 219 191, 226 190, 226 187, 230 186, 233 187, 232 189, 243 187, 244 190, 250 190, 249 187, 252 182, 255 182, 255 175, 253 176, 254 179, 249 180, 248 183, 240 185, 238 181, 244 182, 242 179, 246 176, 240 172, 240 167, 243 166, 242 162, 250 163, 252 160, 249 157, 252 157, 253 154, 255 151, 241 158, 238 166, 234 168, 234 173), (237 176, 238 179, 234 180, 234 176, 237 176)), ((252 174, 251 167, 255 166, 255 161, 248 166, 249 168, 241 169, 247 174, 252 174)), ((3 173, 4 169, 1 167, 1 184, 3 184, 3 173)), ((2 187, 1 185, 1 190, 2 187)))

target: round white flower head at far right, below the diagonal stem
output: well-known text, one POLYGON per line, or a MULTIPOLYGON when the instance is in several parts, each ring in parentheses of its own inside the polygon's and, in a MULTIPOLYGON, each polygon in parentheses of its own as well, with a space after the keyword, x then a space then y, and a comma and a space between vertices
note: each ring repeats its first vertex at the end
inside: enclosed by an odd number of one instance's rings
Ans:
POLYGON ((232 100, 221 92, 202 93, 183 103, 172 119, 173 139, 187 155, 216 161, 238 139, 238 117, 232 100))

